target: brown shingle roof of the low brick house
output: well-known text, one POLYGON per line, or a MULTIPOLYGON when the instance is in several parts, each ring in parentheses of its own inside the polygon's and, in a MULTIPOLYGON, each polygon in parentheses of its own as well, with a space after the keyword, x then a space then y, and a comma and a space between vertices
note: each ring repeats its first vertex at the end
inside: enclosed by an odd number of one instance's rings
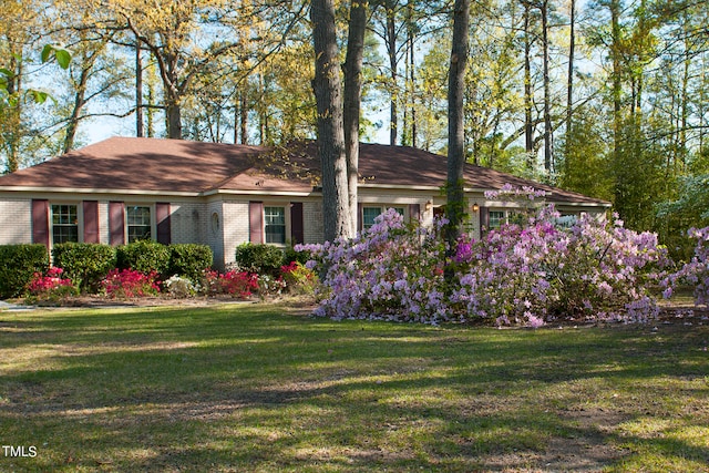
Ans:
MULTIPOLYGON (((195 194, 216 189, 309 192, 320 176, 315 146, 314 142, 307 142, 265 148, 114 137, 2 176, 0 189, 53 187, 195 194)), ((446 179, 446 163, 444 156, 413 147, 362 144, 359 174, 362 183, 369 185, 440 187, 446 179)), ((547 191, 549 200, 607 204, 473 165, 466 165, 465 181, 473 189, 496 189, 510 183, 547 191)))

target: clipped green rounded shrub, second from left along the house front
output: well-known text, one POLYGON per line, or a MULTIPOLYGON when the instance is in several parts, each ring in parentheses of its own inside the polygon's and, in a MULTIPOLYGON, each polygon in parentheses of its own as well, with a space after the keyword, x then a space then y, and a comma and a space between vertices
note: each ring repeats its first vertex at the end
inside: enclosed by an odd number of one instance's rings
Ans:
POLYGON ((62 243, 52 249, 54 266, 82 291, 96 291, 115 267, 115 248, 93 243, 62 243))

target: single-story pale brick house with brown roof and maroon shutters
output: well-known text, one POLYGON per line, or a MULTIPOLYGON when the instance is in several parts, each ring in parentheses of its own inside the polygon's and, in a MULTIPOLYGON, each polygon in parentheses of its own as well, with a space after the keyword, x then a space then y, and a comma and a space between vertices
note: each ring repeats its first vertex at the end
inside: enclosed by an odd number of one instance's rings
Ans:
MULTIPOLYGON (((62 241, 122 245, 140 238, 199 243, 224 268, 245 241, 322 240, 320 163, 314 143, 282 148, 113 137, 0 176, 0 245, 62 241)), ((445 197, 445 157, 405 146, 362 144, 359 226, 384 208, 431 225, 445 197)), ((466 165, 470 230, 504 222, 511 206, 484 192, 546 191, 565 214, 605 213, 610 204, 466 165)))

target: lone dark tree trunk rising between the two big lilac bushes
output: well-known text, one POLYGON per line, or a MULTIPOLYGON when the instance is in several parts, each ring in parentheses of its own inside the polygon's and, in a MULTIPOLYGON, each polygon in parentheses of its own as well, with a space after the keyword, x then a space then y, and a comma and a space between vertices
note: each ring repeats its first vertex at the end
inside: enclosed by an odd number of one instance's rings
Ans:
POLYGON ((471 0, 455 0, 453 7, 453 44, 448 82, 448 189, 446 240, 449 251, 455 250, 465 215, 464 175, 465 135, 463 125, 463 95, 467 65, 467 37, 471 0))

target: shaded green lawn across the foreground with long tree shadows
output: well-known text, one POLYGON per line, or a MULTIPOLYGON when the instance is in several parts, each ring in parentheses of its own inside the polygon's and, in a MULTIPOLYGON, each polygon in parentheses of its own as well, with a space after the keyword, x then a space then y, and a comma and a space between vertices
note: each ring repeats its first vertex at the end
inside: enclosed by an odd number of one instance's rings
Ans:
POLYGON ((709 322, 0 312, 0 472, 709 471, 709 322), (18 451, 14 451, 16 454, 18 451), (11 453, 11 452, 10 452, 11 453))

